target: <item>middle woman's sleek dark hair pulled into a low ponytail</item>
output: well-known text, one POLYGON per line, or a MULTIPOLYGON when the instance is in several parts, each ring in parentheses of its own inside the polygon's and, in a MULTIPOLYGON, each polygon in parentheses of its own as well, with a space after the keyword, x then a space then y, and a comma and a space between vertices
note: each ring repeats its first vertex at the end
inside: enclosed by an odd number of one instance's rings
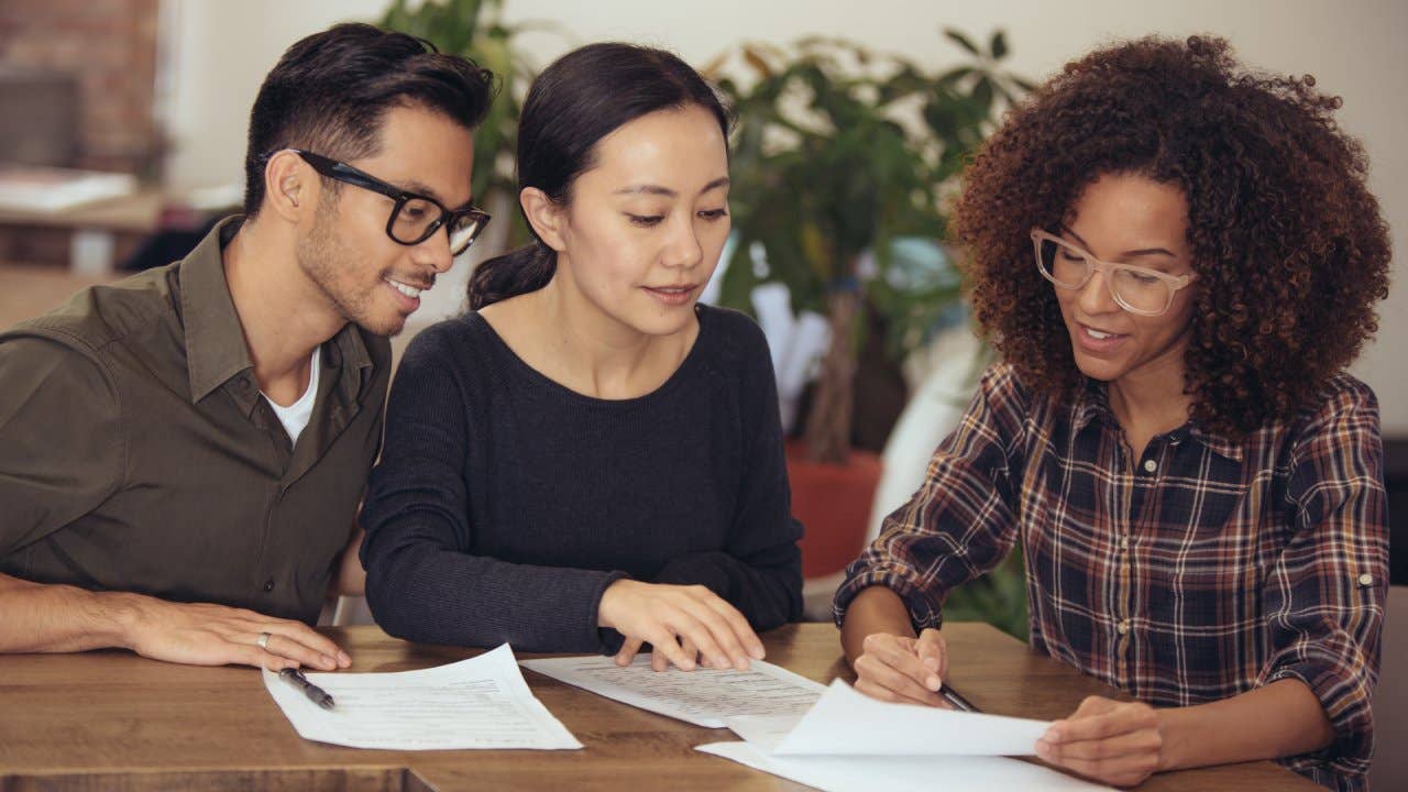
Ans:
MULTIPOLYGON (((612 42, 573 49, 528 89, 518 121, 518 190, 536 187, 566 206, 572 183, 596 165, 597 141, 641 116, 690 106, 712 113, 728 137, 724 103, 674 55, 612 42)), ((558 254, 541 240, 491 258, 469 278, 469 310, 536 292, 556 269, 558 254)))

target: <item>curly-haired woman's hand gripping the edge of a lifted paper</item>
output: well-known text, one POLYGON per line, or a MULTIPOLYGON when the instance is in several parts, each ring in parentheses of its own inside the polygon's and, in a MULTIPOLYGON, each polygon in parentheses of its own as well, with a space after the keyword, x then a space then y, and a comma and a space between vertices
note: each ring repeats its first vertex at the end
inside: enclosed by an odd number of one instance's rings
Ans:
POLYGON ((1162 767, 1159 713, 1142 702, 1088 696, 1036 741, 1036 755, 1087 778, 1135 786, 1162 767))

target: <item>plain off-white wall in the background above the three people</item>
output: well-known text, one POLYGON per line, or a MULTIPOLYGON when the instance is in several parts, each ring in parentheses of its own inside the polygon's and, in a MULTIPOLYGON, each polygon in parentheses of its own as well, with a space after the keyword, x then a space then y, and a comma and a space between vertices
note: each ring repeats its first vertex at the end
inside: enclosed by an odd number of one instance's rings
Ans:
MULTIPOLYGON (((249 106, 265 72, 301 35, 339 20, 375 20, 383 0, 166 0, 173 3, 177 41, 173 65, 170 158, 173 186, 237 180, 249 106)), ((1324 90, 1345 99, 1342 125, 1363 140, 1370 183, 1394 230, 1394 248, 1408 251, 1408 3, 1394 0, 507 0, 513 20, 553 20, 570 34, 534 34, 527 42, 545 65, 574 44, 621 38, 670 48, 704 63, 741 39, 788 42, 807 34, 845 35, 867 47, 935 66, 957 59, 939 28, 974 37, 1002 27, 1011 66, 1043 78, 1063 62, 1112 38, 1159 32, 1228 37, 1243 61, 1284 73, 1312 73, 1324 90)), ((1408 434, 1408 365, 1393 348, 1408 337, 1404 264, 1383 306, 1378 341, 1354 373, 1378 393, 1384 431, 1408 434)))

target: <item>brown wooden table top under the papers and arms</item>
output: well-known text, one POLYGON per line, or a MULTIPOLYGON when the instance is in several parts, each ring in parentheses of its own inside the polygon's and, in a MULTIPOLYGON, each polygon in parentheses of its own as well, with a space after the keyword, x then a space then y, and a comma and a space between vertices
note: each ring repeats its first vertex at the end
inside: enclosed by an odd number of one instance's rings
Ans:
MULTIPOLYGON (((406 671, 476 650, 407 644, 376 627, 328 629, 352 671, 406 671)), ((979 709, 1055 719, 1111 691, 987 624, 943 630, 953 688, 979 709)), ((852 678, 829 624, 763 636, 767 660, 852 678)), ((169 665, 121 651, 0 657, 0 792, 362 789, 804 789, 694 745, 729 740, 525 671, 580 751, 363 751, 300 738, 249 668, 169 665)), ((1142 789, 1319 789, 1270 762, 1166 774, 1142 789)))

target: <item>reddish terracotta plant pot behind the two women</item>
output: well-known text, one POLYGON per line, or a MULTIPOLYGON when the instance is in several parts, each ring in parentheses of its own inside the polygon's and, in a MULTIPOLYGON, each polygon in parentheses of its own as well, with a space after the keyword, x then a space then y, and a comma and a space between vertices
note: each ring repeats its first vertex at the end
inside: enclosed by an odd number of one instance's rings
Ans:
POLYGON ((812 462, 807 447, 787 443, 793 516, 801 520, 801 574, 824 578, 850 564, 866 541, 870 505, 880 483, 880 457, 850 451, 845 465, 812 462))

